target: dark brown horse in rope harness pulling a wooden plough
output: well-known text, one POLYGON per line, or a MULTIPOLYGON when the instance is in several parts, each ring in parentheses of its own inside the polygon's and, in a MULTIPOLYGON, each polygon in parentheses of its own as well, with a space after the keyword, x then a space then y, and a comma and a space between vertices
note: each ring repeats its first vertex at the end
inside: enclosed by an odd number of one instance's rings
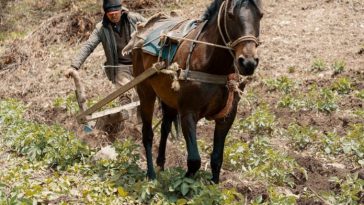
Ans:
MULTIPOLYGON (((185 37, 195 42, 180 42, 173 59, 187 73, 199 73, 195 76, 197 80, 183 80, 182 75, 188 75, 183 72, 178 80, 179 89, 174 90, 171 89, 171 76, 161 73, 137 86, 149 179, 156 178, 152 159, 152 117, 158 96, 162 101, 163 121, 157 165, 164 168, 167 136, 172 121, 179 113, 188 152, 186 176, 193 176, 201 166, 196 139, 197 122, 204 117, 214 119, 211 169, 213 182, 219 182, 225 138, 235 119, 240 98, 236 92, 229 91, 231 86, 227 86, 227 82, 214 83, 211 79, 230 78, 228 76, 234 79, 238 76, 235 74, 254 73, 258 65, 257 46, 263 16, 261 6, 261 0, 214 0, 203 15, 204 23, 185 37), (221 112, 224 114, 221 115, 221 112)), ((158 57, 143 53, 141 49, 133 50, 134 75, 141 74, 156 62, 158 57)))

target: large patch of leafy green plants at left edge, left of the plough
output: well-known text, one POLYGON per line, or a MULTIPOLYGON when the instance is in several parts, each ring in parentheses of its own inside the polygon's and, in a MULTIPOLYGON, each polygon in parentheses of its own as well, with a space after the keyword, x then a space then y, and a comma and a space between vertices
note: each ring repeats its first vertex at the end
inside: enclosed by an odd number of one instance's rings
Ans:
POLYGON ((88 147, 58 125, 48 126, 25 121, 16 101, 2 101, 1 116, 5 124, 0 127, 5 145, 29 160, 44 160, 49 166, 64 169, 87 158, 88 147))

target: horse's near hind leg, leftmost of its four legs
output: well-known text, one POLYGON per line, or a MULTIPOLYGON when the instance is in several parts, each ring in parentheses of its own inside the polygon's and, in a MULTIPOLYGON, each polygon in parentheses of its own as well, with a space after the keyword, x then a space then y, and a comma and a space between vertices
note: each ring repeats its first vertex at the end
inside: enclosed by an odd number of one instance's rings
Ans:
POLYGON ((143 145, 147 158, 147 177, 151 180, 156 178, 156 174, 153 167, 153 128, 152 119, 154 112, 154 102, 156 95, 151 87, 138 85, 137 91, 140 99, 140 115, 143 122, 142 134, 143 145))

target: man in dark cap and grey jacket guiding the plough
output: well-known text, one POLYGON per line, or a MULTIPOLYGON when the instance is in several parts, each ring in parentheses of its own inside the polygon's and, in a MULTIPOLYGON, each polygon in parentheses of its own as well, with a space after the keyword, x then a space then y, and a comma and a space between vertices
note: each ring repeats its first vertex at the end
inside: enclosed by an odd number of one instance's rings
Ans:
MULTIPOLYGON (((122 7, 121 0, 104 0, 103 9, 103 20, 96 25, 89 39, 73 59, 71 67, 80 69, 87 57, 102 43, 106 56, 105 73, 118 88, 132 79, 131 55, 123 56, 121 51, 128 44, 137 22, 143 22, 145 19, 140 14, 129 12, 122 7)), ((120 101, 126 104, 135 98, 136 92, 131 90, 121 96, 120 101)))

